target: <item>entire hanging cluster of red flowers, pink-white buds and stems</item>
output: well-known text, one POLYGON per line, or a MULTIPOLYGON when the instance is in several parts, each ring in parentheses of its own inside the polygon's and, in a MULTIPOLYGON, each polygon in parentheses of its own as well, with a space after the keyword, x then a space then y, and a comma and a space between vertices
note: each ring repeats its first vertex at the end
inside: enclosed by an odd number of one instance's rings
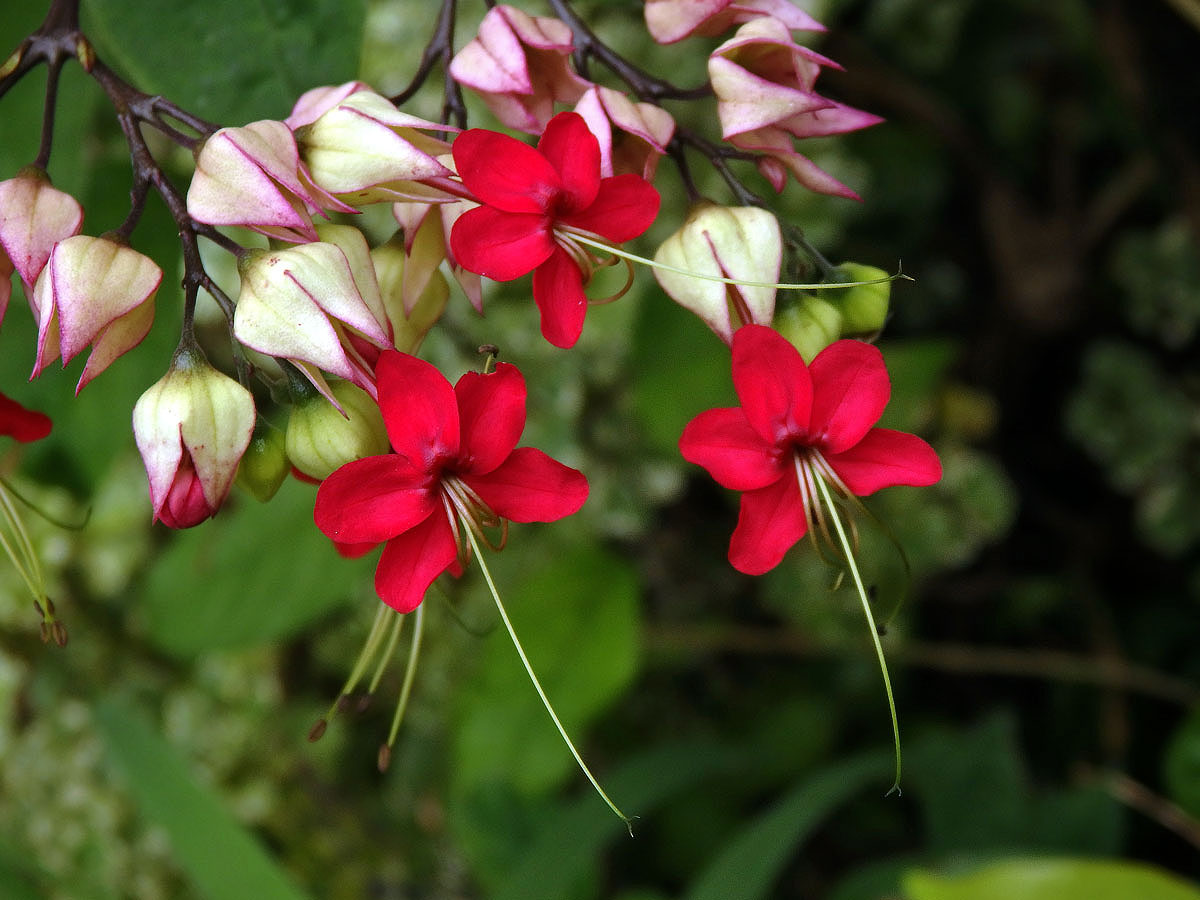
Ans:
MULTIPOLYGON (((646 23, 661 43, 737 29, 710 50, 708 83, 683 89, 605 46, 566 4, 554 5, 556 17, 488 6, 457 53, 452 16, 444 13, 397 102, 348 82, 307 91, 283 119, 232 127, 140 94, 97 64, 78 23, 48 19, 119 112, 136 163, 134 199, 120 228, 90 236, 80 205, 46 174, 48 146, 0 182, 0 319, 16 274, 37 323, 34 376, 90 346, 82 390, 152 326, 162 270, 130 246, 130 235, 149 191, 162 196, 179 227, 184 316, 167 373, 132 410, 154 521, 196 526, 220 510, 235 480, 269 499, 292 472, 319 485, 316 524, 343 553, 383 546, 376 590, 388 607, 409 613, 442 574, 461 575, 480 542, 503 546, 509 522, 576 512, 588 496, 584 475, 517 446, 526 382, 515 365, 494 364, 491 352, 482 372, 451 385, 418 358, 450 302, 444 270, 480 313, 484 280, 532 275, 541 335, 568 349, 590 305, 628 290, 632 262, 655 266, 664 290, 731 346, 742 406, 696 418, 679 446, 743 492, 730 548, 740 571, 767 571, 805 533, 827 534, 823 492, 848 500, 936 481, 928 444, 872 427, 889 392, 880 352, 839 340, 874 338, 887 312, 887 280, 842 278, 875 290, 853 310, 793 290, 821 286, 779 284, 785 251, 808 248, 826 282, 836 274, 731 169, 752 163, 776 191, 791 175, 817 192, 857 197, 794 149, 800 138, 880 121, 816 92, 820 72, 836 64, 794 32, 821 25, 788 0, 648 0, 646 23), (444 121, 398 106, 436 58, 449 78, 444 121), (594 82, 593 65, 622 88, 594 82), (535 143, 467 128, 462 88, 535 143), (668 98, 714 97, 726 146, 677 125, 662 107, 668 98), (186 192, 157 168, 143 130, 192 152, 186 192), (739 205, 700 194, 689 162, 696 152, 739 205), (624 245, 659 215, 653 181, 667 155, 690 211, 652 262, 624 245), (368 206, 383 215, 370 217, 370 228, 353 224, 368 206), (233 295, 205 269, 200 239, 236 258, 233 295), (625 288, 589 296, 596 270, 619 262, 630 275, 625 288), (778 299, 781 288, 793 290, 788 299, 778 299), (236 378, 202 350, 200 290, 224 313, 236 378), (289 406, 286 427, 271 421, 266 397, 289 406)), ((48 66, 61 64, 59 50, 36 52, 48 66)), ((29 65, 19 58, 0 70, 0 95, 29 65)), ((53 101, 53 86, 49 94, 53 101)), ((0 395, 0 434, 28 440, 46 430, 48 421, 0 395)))

